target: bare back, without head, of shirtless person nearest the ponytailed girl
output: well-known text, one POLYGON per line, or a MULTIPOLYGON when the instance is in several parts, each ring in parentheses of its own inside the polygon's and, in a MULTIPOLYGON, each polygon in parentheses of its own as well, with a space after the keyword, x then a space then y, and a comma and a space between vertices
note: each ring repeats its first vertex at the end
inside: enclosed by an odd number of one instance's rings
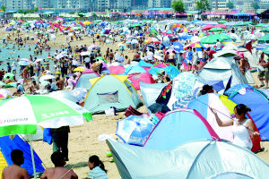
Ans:
POLYGON ((74 170, 68 170, 62 166, 56 166, 54 168, 48 168, 40 179, 76 179, 78 176, 74 173, 74 170))

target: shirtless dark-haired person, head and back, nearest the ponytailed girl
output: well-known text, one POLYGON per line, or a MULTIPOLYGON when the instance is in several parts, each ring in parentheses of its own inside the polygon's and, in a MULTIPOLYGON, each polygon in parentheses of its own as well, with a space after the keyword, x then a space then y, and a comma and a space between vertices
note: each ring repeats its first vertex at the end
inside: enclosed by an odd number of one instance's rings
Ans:
POLYGON ((74 173, 74 170, 68 170, 65 168, 65 158, 63 153, 54 152, 51 155, 51 161, 55 167, 45 170, 40 179, 76 179, 78 176, 74 173))

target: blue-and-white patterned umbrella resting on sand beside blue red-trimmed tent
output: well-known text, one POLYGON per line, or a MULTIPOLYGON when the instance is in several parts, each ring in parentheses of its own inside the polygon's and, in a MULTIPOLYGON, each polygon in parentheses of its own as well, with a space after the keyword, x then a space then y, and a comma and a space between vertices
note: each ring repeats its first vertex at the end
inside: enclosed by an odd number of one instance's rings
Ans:
POLYGON ((146 117, 129 115, 117 122, 116 135, 127 144, 143 146, 153 126, 146 117))

